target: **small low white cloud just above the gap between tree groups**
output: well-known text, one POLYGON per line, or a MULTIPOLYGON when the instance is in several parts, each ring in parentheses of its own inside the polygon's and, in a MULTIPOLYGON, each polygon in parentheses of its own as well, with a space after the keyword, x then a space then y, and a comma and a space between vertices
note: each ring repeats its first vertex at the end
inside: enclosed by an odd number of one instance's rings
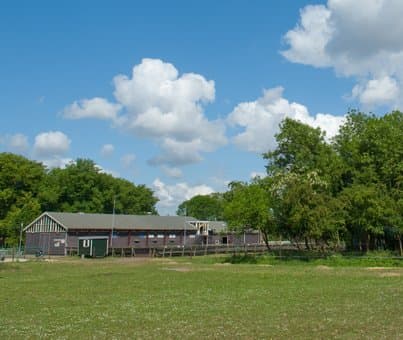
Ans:
POLYGON ((156 196, 159 198, 157 204, 160 214, 174 214, 177 206, 183 201, 191 199, 196 195, 209 195, 214 190, 205 185, 191 186, 185 182, 168 185, 156 178, 152 184, 156 196))

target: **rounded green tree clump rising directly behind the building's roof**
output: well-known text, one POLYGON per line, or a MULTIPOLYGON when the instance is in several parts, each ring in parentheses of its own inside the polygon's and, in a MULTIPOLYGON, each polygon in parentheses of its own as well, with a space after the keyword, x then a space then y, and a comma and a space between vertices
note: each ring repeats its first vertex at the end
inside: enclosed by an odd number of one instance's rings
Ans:
POLYGON ((91 160, 78 159, 53 169, 41 197, 45 210, 119 214, 155 214, 152 190, 103 173, 91 160))

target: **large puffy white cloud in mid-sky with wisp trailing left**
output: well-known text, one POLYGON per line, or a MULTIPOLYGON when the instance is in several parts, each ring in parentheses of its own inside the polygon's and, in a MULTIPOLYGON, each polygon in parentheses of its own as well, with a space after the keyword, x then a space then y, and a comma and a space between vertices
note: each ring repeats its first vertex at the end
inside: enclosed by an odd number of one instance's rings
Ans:
POLYGON ((74 102, 68 118, 110 119, 114 126, 160 146, 150 163, 180 166, 226 144, 225 124, 209 120, 204 106, 215 99, 215 84, 196 73, 179 74, 160 59, 143 59, 130 76, 114 78, 116 103, 103 98, 74 102))

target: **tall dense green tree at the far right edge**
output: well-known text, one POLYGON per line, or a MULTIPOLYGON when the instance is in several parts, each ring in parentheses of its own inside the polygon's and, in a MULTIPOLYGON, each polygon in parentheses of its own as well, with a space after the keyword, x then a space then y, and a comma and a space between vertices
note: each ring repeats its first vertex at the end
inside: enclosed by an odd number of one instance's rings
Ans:
POLYGON ((359 248, 374 248, 393 231, 402 252, 403 114, 351 111, 335 139, 343 164, 348 228, 359 248))

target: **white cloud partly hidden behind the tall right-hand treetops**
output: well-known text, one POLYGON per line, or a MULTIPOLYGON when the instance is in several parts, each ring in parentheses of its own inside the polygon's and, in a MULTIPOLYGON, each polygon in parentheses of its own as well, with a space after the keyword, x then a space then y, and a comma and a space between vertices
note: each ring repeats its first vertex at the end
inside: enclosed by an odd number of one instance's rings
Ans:
POLYGON ((319 127, 331 138, 338 132, 344 117, 318 113, 311 116, 308 109, 283 97, 284 89, 275 87, 264 90, 263 96, 252 102, 238 104, 228 116, 228 123, 243 128, 233 142, 252 152, 266 152, 276 146, 275 134, 286 117, 296 119, 312 127, 319 127))

